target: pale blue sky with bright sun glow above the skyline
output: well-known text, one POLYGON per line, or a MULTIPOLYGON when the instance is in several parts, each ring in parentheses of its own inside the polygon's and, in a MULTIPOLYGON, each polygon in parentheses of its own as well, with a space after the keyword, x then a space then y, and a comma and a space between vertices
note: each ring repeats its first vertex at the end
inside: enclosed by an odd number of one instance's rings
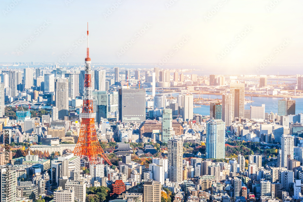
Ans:
POLYGON ((14 1, 0 2, 0 62, 58 62, 69 49, 62 61, 83 62, 88 22, 92 62, 303 63, 299 0, 14 1))

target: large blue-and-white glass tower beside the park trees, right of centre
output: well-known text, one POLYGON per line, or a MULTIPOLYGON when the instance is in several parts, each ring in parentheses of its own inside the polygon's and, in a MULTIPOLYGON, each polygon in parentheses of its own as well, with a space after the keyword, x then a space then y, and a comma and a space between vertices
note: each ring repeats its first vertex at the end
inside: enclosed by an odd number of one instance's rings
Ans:
POLYGON ((212 119, 206 123, 206 158, 225 158, 225 123, 212 119))

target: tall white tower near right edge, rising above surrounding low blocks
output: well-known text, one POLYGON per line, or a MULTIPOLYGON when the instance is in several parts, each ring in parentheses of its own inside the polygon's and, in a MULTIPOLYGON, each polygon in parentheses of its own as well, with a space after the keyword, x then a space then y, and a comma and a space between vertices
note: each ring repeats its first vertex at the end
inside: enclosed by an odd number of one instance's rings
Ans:
POLYGON ((294 137, 282 135, 281 137, 281 167, 287 167, 287 158, 294 159, 294 137))

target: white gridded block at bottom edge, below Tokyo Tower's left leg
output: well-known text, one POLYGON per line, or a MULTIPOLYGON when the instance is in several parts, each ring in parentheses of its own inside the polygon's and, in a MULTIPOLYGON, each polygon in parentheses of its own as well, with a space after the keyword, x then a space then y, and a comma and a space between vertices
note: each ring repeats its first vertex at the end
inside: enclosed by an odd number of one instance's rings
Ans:
MULTIPOLYGON (((103 165, 103 164, 102 164, 103 165)), ((65 183, 65 189, 72 189, 74 193, 75 200, 78 202, 85 202, 86 199, 86 183, 81 181, 67 180, 65 183)))

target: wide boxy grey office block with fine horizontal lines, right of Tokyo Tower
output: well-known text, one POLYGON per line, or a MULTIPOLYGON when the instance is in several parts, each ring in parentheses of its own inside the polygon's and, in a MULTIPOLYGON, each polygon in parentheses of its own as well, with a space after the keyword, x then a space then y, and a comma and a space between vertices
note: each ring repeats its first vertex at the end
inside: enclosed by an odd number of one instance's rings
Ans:
POLYGON ((145 89, 119 89, 119 121, 145 121, 145 89))

